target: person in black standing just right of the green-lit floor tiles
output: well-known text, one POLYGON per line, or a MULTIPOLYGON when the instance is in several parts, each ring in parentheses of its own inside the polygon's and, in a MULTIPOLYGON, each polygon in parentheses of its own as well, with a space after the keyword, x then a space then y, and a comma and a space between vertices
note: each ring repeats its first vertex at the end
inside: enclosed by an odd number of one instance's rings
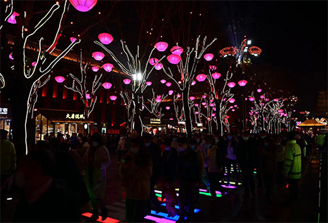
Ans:
POLYGON ((256 144, 254 141, 249 140, 249 133, 245 131, 242 133, 242 140, 238 144, 237 150, 237 161, 242 169, 242 184, 244 186, 245 198, 249 198, 249 188, 251 189, 251 195, 255 196, 253 172, 257 156, 256 144))

